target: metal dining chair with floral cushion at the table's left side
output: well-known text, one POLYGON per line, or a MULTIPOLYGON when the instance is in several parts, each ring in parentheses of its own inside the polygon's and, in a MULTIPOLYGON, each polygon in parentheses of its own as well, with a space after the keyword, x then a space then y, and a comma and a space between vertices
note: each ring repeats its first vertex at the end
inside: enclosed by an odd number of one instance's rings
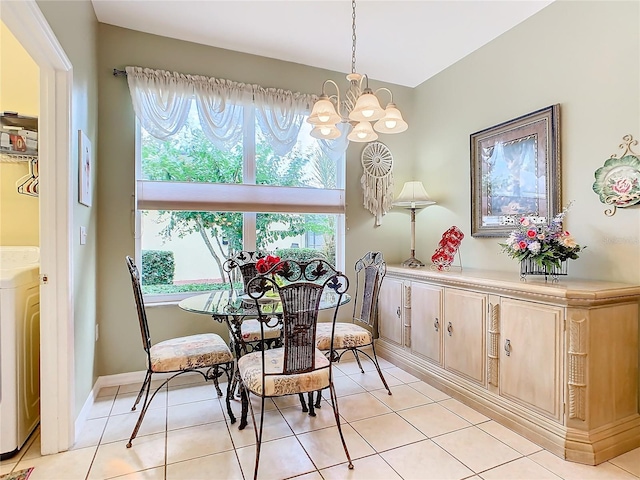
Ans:
POLYGON ((140 416, 131 433, 127 448, 131 448, 133 439, 138 435, 138 431, 147 413, 149 405, 153 401, 158 391, 163 388, 170 380, 183 373, 194 372, 199 373, 205 381, 213 380, 218 396, 222 396, 218 378, 223 373, 227 375, 227 412, 231 423, 235 423, 236 417, 231 410, 231 386, 234 375, 234 360, 229 346, 225 341, 215 333, 205 333, 199 335, 190 335, 187 337, 172 338, 162 342, 153 344, 149 333, 149 323, 147 321, 147 313, 144 306, 142 296, 142 288, 140 286, 140 272, 136 267, 133 259, 126 257, 127 268, 131 274, 131 284, 133 286, 133 296, 138 311, 138 323, 140 325, 140 333, 142 335, 142 347, 147 357, 147 374, 145 376, 138 397, 133 404, 131 410, 135 410, 138 403, 142 399, 144 393, 144 401, 140 416), (154 373, 170 374, 169 377, 162 382, 149 396, 151 389, 151 377, 154 373))

